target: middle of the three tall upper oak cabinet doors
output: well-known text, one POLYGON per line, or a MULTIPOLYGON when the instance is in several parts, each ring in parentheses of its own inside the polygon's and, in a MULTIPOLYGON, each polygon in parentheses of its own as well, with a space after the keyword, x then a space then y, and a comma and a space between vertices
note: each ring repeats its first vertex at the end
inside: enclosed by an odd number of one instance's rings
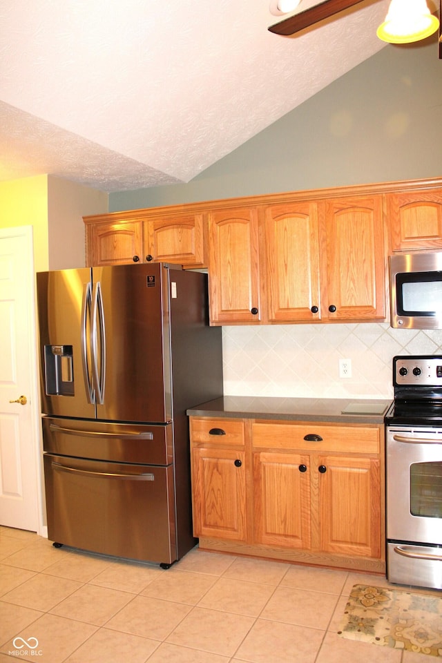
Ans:
POLYGON ((318 209, 314 202, 265 208, 267 318, 320 318, 318 209))

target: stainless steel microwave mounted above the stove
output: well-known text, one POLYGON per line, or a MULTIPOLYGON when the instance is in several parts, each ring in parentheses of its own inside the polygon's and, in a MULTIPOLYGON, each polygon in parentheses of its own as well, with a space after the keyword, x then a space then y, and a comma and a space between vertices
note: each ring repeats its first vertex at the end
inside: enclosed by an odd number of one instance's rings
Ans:
POLYGON ((390 256, 391 325, 442 329, 442 251, 390 256))

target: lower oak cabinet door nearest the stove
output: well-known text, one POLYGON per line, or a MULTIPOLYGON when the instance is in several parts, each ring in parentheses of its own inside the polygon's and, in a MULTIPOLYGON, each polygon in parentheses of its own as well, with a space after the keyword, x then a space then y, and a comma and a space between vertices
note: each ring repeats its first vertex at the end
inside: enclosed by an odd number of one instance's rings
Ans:
POLYGON ((321 455, 318 468, 321 549, 381 557, 378 459, 321 455))

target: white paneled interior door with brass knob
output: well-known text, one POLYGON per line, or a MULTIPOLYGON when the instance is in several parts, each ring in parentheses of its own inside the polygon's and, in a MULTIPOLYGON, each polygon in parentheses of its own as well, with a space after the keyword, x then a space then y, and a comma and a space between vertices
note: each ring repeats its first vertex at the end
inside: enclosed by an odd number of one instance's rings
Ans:
POLYGON ((0 524, 35 532, 41 519, 38 427, 32 227, 0 229, 0 524))

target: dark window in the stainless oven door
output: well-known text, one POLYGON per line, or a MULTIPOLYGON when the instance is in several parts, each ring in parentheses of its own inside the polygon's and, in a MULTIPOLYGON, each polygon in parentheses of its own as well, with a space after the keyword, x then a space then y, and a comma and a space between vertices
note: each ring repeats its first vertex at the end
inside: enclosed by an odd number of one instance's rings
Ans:
POLYGON ((413 516, 442 518, 442 461, 411 465, 410 512, 413 516))

